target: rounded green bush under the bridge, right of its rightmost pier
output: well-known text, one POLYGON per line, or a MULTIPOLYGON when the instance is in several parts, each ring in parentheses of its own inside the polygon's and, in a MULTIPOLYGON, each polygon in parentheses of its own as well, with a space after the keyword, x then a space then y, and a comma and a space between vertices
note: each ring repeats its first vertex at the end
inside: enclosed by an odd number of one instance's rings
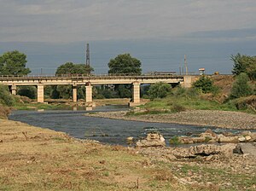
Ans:
POLYGON ((164 98, 168 94, 171 93, 172 86, 170 84, 166 83, 155 83, 150 85, 150 88, 148 90, 148 95, 150 100, 154 100, 154 98, 164 98))

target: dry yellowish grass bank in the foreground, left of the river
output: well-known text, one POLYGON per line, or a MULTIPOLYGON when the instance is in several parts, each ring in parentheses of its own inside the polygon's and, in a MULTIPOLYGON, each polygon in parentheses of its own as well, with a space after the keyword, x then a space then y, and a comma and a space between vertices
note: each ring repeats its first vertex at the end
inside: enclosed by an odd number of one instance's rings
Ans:
POLYGON ((147 158, 135 150, 78 142, 8 120, 0 128, 0 190, 189 190, 172 180, 171 172, 161 175, 164 166, 144 168, 147 158))

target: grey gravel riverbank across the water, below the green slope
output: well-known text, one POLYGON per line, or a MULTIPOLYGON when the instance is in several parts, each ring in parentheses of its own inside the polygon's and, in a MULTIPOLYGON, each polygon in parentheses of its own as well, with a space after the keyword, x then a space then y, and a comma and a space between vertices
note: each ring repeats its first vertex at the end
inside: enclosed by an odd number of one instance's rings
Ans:
POLYGON ((226 129, 256 130, 256 115, 249 113, 192 110, 180 113, 145 114, 126 116, 126 112, 90 113, 93 117, 137 120, 157 123, 196 124, 226 129))

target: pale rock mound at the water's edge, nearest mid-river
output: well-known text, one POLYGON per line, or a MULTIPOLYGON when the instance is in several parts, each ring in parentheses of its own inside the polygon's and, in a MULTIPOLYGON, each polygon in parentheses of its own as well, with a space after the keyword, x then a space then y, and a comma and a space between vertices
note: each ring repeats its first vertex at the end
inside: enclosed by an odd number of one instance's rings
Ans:
POLYGON ((148 133, 146 139, 139 140, 137 147, 165 147, 166 142, 164 136, 159 133, 148 133))

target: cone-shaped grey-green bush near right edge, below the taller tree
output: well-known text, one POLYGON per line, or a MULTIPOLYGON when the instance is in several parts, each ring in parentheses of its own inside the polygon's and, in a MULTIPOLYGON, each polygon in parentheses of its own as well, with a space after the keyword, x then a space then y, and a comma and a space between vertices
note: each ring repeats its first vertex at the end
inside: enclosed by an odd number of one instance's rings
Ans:
POLYGON ((232 89, 231 89, 231 94, 230 98, 239 98, 242 96, 249 96, 253 94, 253 90, 248 84, 249 78, 247 76, 247 73, 240 73, 236 77, 236 81, 234 82, 232 89))

